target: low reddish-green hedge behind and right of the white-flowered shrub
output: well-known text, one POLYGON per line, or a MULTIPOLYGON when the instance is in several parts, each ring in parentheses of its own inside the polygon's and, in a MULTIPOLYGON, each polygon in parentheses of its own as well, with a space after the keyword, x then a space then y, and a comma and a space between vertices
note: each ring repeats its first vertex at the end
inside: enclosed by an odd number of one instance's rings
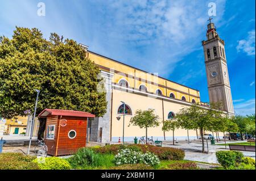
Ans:
MULTIPOLYGON (((185 152, 181 149, 170 148, 170 147, 159 147, 153 145, 130 145, 136 146, 142 150, 143 153, 149 151, 158 156, 160 160, 181 160, 185 157, 185 152)), ((129 146, 128 146, 129 147, 129 146)))

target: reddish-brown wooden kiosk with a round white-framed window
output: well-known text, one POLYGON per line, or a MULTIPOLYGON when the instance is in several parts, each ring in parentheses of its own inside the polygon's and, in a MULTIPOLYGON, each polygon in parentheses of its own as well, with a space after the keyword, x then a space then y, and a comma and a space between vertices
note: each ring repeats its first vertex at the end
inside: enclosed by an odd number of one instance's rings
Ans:
POLYGON ((69 155, 86 146, 88 117, 95 115, 83 111, 45 109, 39 117, 46 117, 44 140, 47 154, 69 155))

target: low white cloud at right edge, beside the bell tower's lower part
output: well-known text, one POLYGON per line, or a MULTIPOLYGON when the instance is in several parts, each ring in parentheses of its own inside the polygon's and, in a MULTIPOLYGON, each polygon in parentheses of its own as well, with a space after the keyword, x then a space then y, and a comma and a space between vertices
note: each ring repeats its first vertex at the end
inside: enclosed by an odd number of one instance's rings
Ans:
POLYGON ((234 104, 236 115, 250 115, 255 113, 255 99, 250 99, 245 102, 234 104))

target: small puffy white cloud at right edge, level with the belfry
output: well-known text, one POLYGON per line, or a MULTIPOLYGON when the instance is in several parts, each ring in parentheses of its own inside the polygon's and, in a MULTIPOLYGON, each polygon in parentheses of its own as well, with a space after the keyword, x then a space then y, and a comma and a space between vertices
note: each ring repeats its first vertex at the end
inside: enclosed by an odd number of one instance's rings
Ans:
POLYGON ((249 31, 246 39, 238 41, 237 51, 241 50, 248 56, 255 55, 255 30, 249 31))

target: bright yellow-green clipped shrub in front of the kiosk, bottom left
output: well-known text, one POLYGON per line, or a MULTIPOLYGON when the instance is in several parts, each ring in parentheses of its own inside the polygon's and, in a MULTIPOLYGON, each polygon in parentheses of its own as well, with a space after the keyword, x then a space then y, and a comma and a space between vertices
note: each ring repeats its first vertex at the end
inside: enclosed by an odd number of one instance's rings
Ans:
POLYGON ((40 157, 33 161, 37 163, 41 170, 70 170, 71 165, 68 161, 59 157, 40 157))

